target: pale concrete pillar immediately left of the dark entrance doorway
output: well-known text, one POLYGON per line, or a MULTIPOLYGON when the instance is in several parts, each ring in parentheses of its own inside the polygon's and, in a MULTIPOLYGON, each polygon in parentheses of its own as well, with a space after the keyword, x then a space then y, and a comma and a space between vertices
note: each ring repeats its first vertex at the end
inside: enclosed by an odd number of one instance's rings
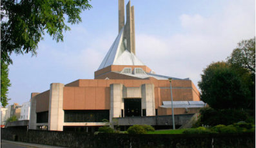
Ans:
POLYGON ((112 118, 121 117, 123 108, 123 84, 110 84, 110 113, 109 122, 112 118))

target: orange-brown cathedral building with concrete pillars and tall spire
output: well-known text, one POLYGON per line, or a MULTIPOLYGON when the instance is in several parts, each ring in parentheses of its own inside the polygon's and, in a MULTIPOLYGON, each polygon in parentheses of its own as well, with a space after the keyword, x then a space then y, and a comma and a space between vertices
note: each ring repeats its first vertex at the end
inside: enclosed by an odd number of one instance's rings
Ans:
POLYGON ((171 98, 175 115, 199 112, 205 103, 189 78, 157 74, 138 59, 134 24, 134 7, 126 5, 125 23, 124 0, 119 0, 119 34, 95 79, 53 83, 47 91, 32 93, 29 129, 63 131, 106 126, 115 119, 171 115, 171 98))

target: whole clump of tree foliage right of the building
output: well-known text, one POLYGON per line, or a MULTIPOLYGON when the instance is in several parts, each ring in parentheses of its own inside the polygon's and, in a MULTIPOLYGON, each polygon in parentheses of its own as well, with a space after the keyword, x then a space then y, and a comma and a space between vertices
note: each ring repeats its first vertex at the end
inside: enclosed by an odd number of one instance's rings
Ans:
POLYGON ((255 37, 242 40, 227 62, 210 64, 201 77, 201 99, 212 108, 254 109, 255 37))

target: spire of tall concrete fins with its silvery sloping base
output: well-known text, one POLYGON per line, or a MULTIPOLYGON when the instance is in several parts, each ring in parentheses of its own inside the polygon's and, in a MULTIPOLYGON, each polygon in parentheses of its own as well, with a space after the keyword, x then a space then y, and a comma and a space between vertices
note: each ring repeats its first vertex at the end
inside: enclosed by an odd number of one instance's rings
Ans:
POLYGON ((99 69, 110 65, 144 65, 135 55, 135 26, 134 7, 130 6, 130 1, 126 5, 126 23, 124 21, 124 0, 119 0, 119 35, 102 60, 99 69))

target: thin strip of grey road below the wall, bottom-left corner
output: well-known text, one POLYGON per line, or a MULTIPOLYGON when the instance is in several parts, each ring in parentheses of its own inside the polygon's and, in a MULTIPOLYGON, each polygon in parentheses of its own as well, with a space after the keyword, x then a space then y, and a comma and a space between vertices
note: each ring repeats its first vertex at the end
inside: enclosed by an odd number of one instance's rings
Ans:
POLYGON ((32 147, 32 148, 64 148, 64 147, 60 147, 60 146, 48 146, 48 145, 35 144, 35 143, 21 143, 21 142, 9 141, 9 140, 5 140, 5 139, 2 139, 1 147, 2 148, 26 148, 26 147, 32 147))

